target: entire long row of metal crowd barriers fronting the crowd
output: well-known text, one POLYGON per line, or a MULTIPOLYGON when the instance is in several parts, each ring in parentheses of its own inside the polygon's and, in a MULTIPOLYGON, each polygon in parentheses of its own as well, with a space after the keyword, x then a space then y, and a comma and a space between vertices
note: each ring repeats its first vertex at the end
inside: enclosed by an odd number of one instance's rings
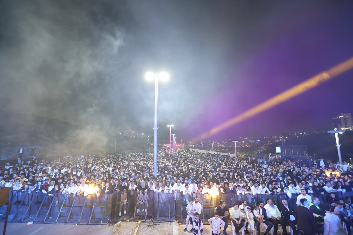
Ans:
MULTIPOLYGON (((120 194, 89 194, 84 197, 77 194, 53 193, 54 196, 48 196, 42 192, 28 193, 12 191, 10 195, 11 211, 8 216, 10 222, 34 222, 34 223, 63 223, 63 224, 106 224, 111 219, 116 220, 134 220, 146 221, 154 219, 155 221, 176 221, 185 223, 187 216, 186 206, 189 197, 199 198, 202 205, 200 218, 204 224, 208 224, 208 219, 214 216, 216 206, 219 201, 226 202, 227 208, 232 208, 233 203, 241 204, 241 200, 246 200, 247 205, 251 208, 253 204, 259 201, 266 203, 267 198, 271 198, 275 205, 280 206, 282 199, 287 199, 288 204, 294 209, 299 194, 292 194, 289 198, 287 194, 256 194, 237 195, 237 194, 221 194, 218 196, 210 196, 209 194, 186 194, 164 193, 164 192, 148 192, 148 203, 146 210, 137 212, 137 191, 128 191, 126 205, 122 211, 126 210, 126 215, 119 215, 120 194), (126 207, 126 208, 125 208, 126 207)), ((322 194, 309 194, 317 196, 321 203, 326 202, 326 196, 322 194)), ((353 196, 353 192, 336 193, 337 198, 353 196)), ((0 216, 4 215, 6 206, 0 207, 0 216)), ((2 216, 4 217, 4 216, 2 216)), ((1 219, 3 219, 1 217, 1 219)), ((230 219, 230 218, 229 218, 230 219)))

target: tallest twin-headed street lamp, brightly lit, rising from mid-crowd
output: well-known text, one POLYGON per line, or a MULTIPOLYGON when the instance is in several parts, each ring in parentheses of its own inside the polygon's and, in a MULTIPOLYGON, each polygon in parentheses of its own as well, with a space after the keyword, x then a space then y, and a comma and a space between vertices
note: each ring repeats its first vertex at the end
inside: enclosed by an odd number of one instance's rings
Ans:
POLYGON ((146 79, 155 80, 155 117, 154 117, 154 153, 153 153, 153 161, 154 161, 154 176, 157 176, 157 105, 158 105, 158 80, 167 80, 167 73, 146 73, 146 79))

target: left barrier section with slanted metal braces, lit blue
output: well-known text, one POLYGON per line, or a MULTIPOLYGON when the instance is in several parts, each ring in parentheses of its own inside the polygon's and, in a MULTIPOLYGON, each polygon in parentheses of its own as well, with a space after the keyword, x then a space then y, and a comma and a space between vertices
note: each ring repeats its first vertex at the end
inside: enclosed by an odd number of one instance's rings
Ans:
MULTIPOLYGON (((77 194, 12 191, 10 222, 106 224, 112 216, 113 194, 77 194)), ((0 214, 1 210, 0 210, 0 214)))

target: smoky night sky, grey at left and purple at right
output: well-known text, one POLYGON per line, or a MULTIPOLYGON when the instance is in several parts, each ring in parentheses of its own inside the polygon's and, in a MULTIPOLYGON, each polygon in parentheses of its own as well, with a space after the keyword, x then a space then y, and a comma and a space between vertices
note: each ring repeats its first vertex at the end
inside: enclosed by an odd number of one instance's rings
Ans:
MULTIPOLYGON (((352 1, 1 1, 2 112, 188 140, 353 56, 352 1)), ((353 71, 210 138, 329 130, 353 71)), ((88 129, 90 128, 90 129, 88 129)))

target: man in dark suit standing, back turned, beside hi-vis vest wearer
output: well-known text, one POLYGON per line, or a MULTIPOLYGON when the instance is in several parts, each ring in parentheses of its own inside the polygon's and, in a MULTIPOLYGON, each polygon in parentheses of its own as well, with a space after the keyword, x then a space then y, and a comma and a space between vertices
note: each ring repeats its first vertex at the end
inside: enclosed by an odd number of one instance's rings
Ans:
POLYGON ((314 214, 309 210, 309 202, 306 198, 300 199, 300 203, 303 206, 297 206, 297 213, 295 221, 297 222, 297 228, 300 235, 314 235, 316 231, 316 223, 314 220, 314 214))

